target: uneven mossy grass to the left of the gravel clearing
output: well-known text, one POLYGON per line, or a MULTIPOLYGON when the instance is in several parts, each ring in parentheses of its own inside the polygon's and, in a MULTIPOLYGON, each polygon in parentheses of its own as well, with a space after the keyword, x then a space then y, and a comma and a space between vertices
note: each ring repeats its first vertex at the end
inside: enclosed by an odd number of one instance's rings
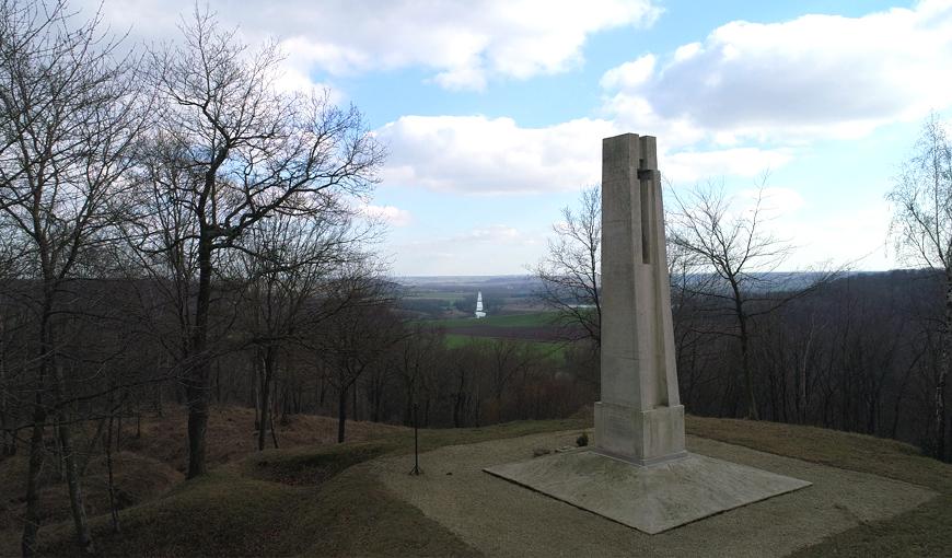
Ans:
MULTIPOLYGON (((421 430, 420 450, 584 428, 522 421, 421 430)), ((413 435, 272 450, 184 481, 156 500, 92 520, 100 556, 474 556, 474 549, 387 491, 360 463, 413 452, 413 435)), ((410 460, 408 460, 408 464, 410 460)), ((409 465, 408 469, 409 470, 409 465)), ((67 523, 40 531, 40 554, 76 555, 67 523)))

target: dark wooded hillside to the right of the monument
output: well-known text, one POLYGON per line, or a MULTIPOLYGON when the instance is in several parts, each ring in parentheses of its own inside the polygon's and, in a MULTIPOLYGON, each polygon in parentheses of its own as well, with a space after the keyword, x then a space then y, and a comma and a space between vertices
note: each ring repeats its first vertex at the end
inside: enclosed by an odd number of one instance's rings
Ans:
MULTIPOLYGON (((763 297, 752 309, 781 300, 763 297)), ((750 324, 746 385, 730 309, 689 297, 675 312, 678 381, 690 412, 756 416, 894 438, 936 454, 942 278, 929 271, 847 275, 750 324)), ((948 455, 944 456, 947 460, 948 455)))

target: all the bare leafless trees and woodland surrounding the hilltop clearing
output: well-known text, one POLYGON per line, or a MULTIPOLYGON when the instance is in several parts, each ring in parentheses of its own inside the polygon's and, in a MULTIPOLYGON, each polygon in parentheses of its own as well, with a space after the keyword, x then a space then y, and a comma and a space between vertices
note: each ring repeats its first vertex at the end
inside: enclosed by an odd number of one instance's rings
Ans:
MULTIPOLYGON (((200 11, 173 46, 144 51, 71 13, 0 2, 0 452, 28 456, 24 555, 44 468, 67 479, 92 545, 86 464, 116 450, 121 422, 170 405, 187 409, 195 477, 212 405, 254 408, 248 435, 265 449, 299 414, 337 417, 343 442, 350 419, 410 425, 416 408, 421 427, 471 427, 597 398, 594 194, 537 274, 562 312, 564 358, 519 339, 450 347, 438 322, 405 318, 374 254, 383 231, 360 208, 386 153, 355 107, 278 89, 275 46, 242 45, 200 11)), ((932 147, 948 211, 949 143, 932 147)), ((920 239, 903 194, 897 234, 920 239)), ((762 235, 756 213, 731 229, 727 201, 698 196, 674 204, 669 248, 688 411, 949 460, 952 220, 925 223, 942 255, 916 261, 926 269, 792 284, 773 278, 793 248, 762 235)))

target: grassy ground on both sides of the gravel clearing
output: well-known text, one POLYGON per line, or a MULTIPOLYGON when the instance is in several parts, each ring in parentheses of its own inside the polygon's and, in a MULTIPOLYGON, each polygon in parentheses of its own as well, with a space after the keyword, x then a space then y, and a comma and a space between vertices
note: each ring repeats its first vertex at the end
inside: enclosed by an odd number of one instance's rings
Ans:
MULTIPOLYGON (((582 420, 514 422, 481 429, 426 430, 421 451, 538 432, 580 430, 582 420)), ((909 445, 809 427, 689 417, 689 433, 824 465, 927 486, 940 497, 891 520, 862 524, 801 556, 943 556, 952 549, 952 467, 909 445)), ((103 556, 468 556, 453 533, 391 495, 364 467, 413 451, 409 431, 378 432, 343 445, 301 445, 252 453, 204 478, 121 513, 121 534, 106 515, 93 520, 103 556)), ((73 551, 71 528, 42 532, 44 554, 73 551)), ((15 551, 9 536, 0 555, 15 551)))

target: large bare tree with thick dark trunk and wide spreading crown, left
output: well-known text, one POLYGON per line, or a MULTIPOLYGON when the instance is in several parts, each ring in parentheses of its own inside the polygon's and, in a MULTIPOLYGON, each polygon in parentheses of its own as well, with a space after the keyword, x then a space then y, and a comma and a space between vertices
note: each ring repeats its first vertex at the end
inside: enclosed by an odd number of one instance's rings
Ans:
POLYGON ((181 323, 195 477, 206 470, 209 317, 222 254, 241 249, 240 239, 269 216, 313 214, 338 195, 367 191, 384 153, 356 108, 337 108, 326 93, 277 89, 274 44, 251 53, 197 10, 182 32, 181 45, 152 55, 160 103, 141 160, 151 193, 137 247, 194 290, 181 323))

